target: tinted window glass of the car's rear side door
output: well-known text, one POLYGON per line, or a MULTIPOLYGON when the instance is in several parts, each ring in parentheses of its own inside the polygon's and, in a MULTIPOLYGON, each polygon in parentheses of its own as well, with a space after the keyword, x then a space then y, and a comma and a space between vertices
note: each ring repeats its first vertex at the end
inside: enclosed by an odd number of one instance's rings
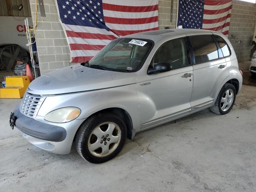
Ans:
POLYGON ((190 36, 195 63, 203 63, 218 59, 218 49, 211 35, 190 36))

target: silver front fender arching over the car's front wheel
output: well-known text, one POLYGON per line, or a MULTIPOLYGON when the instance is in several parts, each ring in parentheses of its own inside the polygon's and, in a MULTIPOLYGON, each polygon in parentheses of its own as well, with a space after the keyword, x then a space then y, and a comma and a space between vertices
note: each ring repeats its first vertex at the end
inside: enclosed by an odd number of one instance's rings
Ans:
POLYGON ((52 110, 67 106, 75 106, 81 109, 81 114, 77 119, 86 119, 106 108, 121 108, 130 115, 135 131, 140 131, 136 84, 74 94, 48 96, 44 100, 38 116, 45 116, 52 110))

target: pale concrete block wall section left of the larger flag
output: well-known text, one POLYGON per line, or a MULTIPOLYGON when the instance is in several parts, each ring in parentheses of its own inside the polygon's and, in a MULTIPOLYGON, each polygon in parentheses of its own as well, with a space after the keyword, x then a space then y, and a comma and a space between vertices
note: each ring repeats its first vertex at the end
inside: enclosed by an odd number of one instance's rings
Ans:
MULTIPOLYGON (((35 0, 30 0, 33 23, 35 21, 35 0)), ((58 19, 55 0, 44 0, 46 17, 41 17, 38 6, 36 46, 41 75, 70 65, 70 50, 58 19)))

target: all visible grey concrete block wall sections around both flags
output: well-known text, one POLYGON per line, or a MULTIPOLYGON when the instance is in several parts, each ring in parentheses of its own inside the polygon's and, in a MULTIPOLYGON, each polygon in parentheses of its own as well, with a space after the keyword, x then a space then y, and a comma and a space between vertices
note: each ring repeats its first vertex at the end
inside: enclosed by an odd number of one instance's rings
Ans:
MULTIPOLYGON (((158 20, 159 29, 176 28, 178 0, 173 4, 173 20, 170 22, 171 0, 159 0, 158 20)), ((254 34, 256 4, 232 0, 232 14, 230 18, 230 32, 228 38, 234 46, 236 55, 239 55, 239 44, 232 38, 241 39, 240 57, 247 61, 250 56, 250 45, 254 34)), ((32 20, 35 20, 35 0, 30 0, 32 20)), ((58 20, 55 0, 44 0, 46 17, 40 16, 38 7, 38 27, 36 31, 36 44, 41 74, 72 65, 70 51, 65 34, 58 20)))

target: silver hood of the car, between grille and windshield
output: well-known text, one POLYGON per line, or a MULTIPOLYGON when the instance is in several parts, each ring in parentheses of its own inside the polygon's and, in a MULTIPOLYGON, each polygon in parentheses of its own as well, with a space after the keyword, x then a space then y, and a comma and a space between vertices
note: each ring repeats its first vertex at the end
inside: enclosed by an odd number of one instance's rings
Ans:
POLYGON ((36 78, 29 84, 28 92, 38 95, 65 94, 134 83, 135 73, 99 70, 76 64, 36 78))

